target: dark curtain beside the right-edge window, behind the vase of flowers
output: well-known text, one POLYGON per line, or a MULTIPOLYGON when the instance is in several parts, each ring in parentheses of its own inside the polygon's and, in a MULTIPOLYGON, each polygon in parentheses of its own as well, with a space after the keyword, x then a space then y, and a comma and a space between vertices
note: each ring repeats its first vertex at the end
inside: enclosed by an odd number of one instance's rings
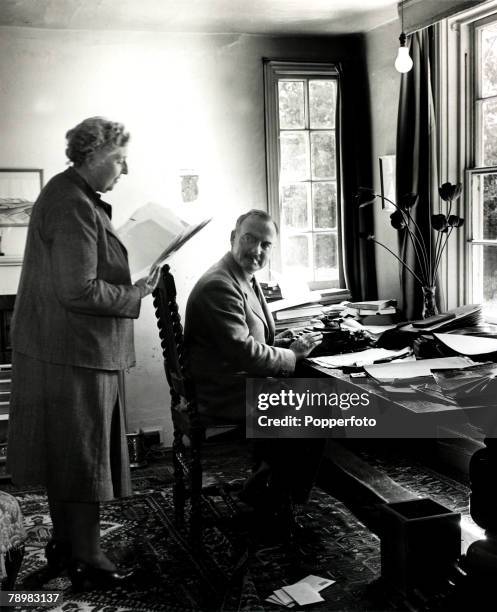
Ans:
MULTIPOLYGON (((419 195, 411 214, 429 253, 433 251, 430 245, 434 245, 430 217, 438 202, 437 130, 433 102, 435 29, 431 26, 409 38, 414 66, 401 77, 397 122, 397 202, 406 193, 419 195)), ((399 251, 418 272, 418 262, 406 232, 399 236, 399 251)), ((408 319, 419 319, 423 305, 421 286, 404 268, 401 269, 401 282, 404 314, 408 319)))

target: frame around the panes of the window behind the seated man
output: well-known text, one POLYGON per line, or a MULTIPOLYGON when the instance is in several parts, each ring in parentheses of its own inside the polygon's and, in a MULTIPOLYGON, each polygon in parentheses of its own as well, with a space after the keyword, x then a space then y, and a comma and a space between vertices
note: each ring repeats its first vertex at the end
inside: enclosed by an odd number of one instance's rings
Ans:
MULTIPOLYGON (((324 289, 343 285, 343 257, 342 257, 342 214, 341 214, 341 164, 340 164, 340 124, 338 120, 338 103, 340 92, 340 74, 336 64, 329 62, 295 62, 285 60, 264 59, 264 113, 266 134, 266 177, 268 210, 270 215, 281 227, 280 203, 280 146, 279 146, 279 108, 278 108, 278 82, 280 79, 335 79, 337 91, 337 115, 335 121, 335 181, 337 195, 336 209, 336 237, 337 237, 337 267, 338 278, 327 280, 308 281, 310 289, 324 289)), ((307 99, 307 94, 306 94, 307 99)), ((306 108, 308 111, 308 108, 306 108)), ((306 128, 310 133, 310 129, 306 128)), ((309 185, 312 186, 312 178, 309 185)), ((317 232, 311 230, 311 234, 317 232)), ((314 254, 314 251, 313 251, 314 254)), ((277 248, 273 250, 271 269, 282 270, 282 237, 277 248)))

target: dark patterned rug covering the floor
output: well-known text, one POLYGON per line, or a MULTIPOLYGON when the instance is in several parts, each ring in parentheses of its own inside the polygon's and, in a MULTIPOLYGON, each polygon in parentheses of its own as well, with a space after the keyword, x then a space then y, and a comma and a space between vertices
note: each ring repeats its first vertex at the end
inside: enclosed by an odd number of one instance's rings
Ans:
MULTIPOLYGON (((291 546, 268 545, 254 537, 247 524, 233 516, 237 507, 234 494, 213 484, 220 477, 226 481, 243 474, 246 467, 236 457, 240 457, 239 449, 234 454, 229 447, 224 453, 216 450, 206 457, 205 483, 210 484, 210 494, 203 499, 203 552, 192 549, 185 529, 173 521, 168 458, 165 463, 163 458, 162 462, 135 471, 135 494, 102 505, 103 546, 114 561, 136 569, 133 581, 113 591, 74 593, 68 578, 59 577, 41 587, 63 592, 64 603, 52 610, 264 612, 278 609, 265 601, 274 589, 308 574, 328 577, 336 583, 321 593, 325 602, 306 606, 306 610, 408 609, 403 601, 387 601, 378 588, 377 536, 344 504, 322 490, 313 492, 306 507, 309 537, 291 546)), ((432 493, 440 491, 443 482, 446 496, 440 501, 449 502, 451 498, 452 504, 447 505, 462 509, 465 488, 457 483, 441 481, 419 466, 387 467, 392 475, 395 472, 396 479, 408 481, 406 484, 418 494, 419 485, 422 495, 434 497, 432 493)), ((44 546, 51 532, 47 500, 39 490, 11 492, 20 501, 28 528, 18 588, 33 590, 40 588, 36 578, 44 565, 44 546)), ((411 605, 409 609, 423 608, 411 605)))

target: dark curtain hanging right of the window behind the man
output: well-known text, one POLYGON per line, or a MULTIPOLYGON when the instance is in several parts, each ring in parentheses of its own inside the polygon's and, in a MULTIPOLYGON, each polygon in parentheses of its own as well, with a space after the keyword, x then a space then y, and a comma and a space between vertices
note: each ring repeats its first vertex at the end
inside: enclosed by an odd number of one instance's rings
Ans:
POLYGON ((354 197, 359 187, 373 184, 369 84, 360 41, 358 47, 358 59, 339 66, 338 149, 345 280, 352 299, 365 300, 377 297, 377 284, 374 244, 360 237, 374 233, 373 207, 359 210, 354 197))

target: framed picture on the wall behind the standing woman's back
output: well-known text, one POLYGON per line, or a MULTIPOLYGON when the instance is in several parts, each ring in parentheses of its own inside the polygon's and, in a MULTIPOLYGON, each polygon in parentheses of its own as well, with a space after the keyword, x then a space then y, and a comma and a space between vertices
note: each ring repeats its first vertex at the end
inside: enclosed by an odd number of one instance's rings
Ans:
POLYGON ((0 168, 0 257, 22 258, 31 210, 42 187, 41 168, 0 168))

